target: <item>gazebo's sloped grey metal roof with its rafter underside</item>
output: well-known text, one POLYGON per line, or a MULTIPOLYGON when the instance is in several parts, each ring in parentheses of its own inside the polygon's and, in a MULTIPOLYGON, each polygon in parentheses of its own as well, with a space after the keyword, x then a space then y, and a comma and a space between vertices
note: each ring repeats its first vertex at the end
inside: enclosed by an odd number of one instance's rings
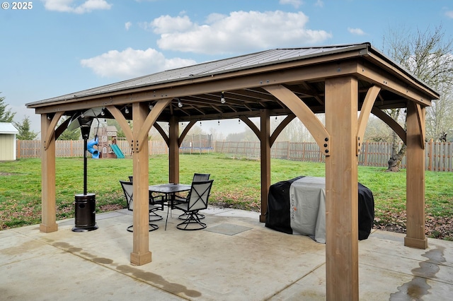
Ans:
MULTIPOLYGON (((262 78, 255 83, 246 83, 246 87, 231 85, 218 85, 215 83, 223 78, 241 78, 243 74, 262 74, 266 70, 285 70, 292 69, 294 66, 316 65, 320 62, 347 60, 350 58, 360 58, 363 61, 369 59, 380 60, 386 63, 391 62, 384 55, 374 49, 369 43, 353 45, 334 45, 325 47, 304 47, 293 49, 270 49, 263 52, 246 54, 229 59, 210 61, 207 63, 187 66, 179 69, 162 71, 147 76, 133 78, 119 83, 103 85, 97 88, 81 90, 76 93, 69 93, 55 98, 30 102, 26 106, 35 108, 38 112, 58 112, 65 110, 65 114, 74 114, 74 107, 80 110, 90 107, 84 100, 101 100, 98 106, 114 104, 120 109, 125 109, 132 102, 149 100, 150 105, 154 105, 154 100, 171 97, 167 92, 176 92, 176 88, 184 85, 184 91, 174 93, 174 100, 164 112, 159 116, 158 121, 168 121, 170 116, 177 116, 181 122, 190 120, 209 120, 222 118, 235 118, 240 116, 256 116, 259 110, 271 110, 271 114, 289 114, 285 105, 282 105, 273 95, 263 90, 260 86, 275 82, 272 78, 262 78), (197 90, 195 84, 213 83, 208 90, 197 90), (192 84, 192 87, 190 87, 192 84), (188 87, 188 88, 187 88, 188 87), (163 90, 164 89, 164 90, 163 90), (170 89, 170 90, 168 90, 170 89), (224 94, 225 103, 220 102, 224 94), (77 105, 74 105, 77 103, 77 105), (81 104, 86 104, 81 107, 81 104), (180 105, 178 105, 180 104, 180 105), (182 106, 181 106, 182 105, 182 106), (46 109, 44 109, 46 108, 46 109)), ((398 72, 410 77, 415 83, 428 89, 427 85, 411 76, 407 71, 394 63, 391 67, 398 72)), ((338 65, 341 69, 341 66, 338 65)), ((340 72, 339 72, 340 73, 340 72)), ((275 75, 278 76, 278 75, 275 75)), ((315 113, 324 112, 323 107, 323 81, 324 77, 309 78, 309 80, 285 83, 289 90, 292 90, 306 105, 315 113)), ((369 83, 360 82, 362 90, 360 99, 365 97, 365 91, 369 88, 369 83)), ((391 90, 383 90, 381 93, 379 108, 405 107, 406 100, 396 95, 391 90)), ((92 106, 92 105, 91 105, 92 106)), ((128 118, 125 113, 125 117, 128 118)), ((129 118, 131 118, 129 116, 129 118)))

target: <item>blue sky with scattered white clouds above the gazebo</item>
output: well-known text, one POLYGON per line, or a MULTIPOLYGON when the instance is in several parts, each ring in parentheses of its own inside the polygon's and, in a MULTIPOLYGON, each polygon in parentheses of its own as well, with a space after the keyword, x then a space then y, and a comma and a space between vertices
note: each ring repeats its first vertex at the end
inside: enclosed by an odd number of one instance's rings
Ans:
POLYGON ((267 49, 371 42, 384 52, 391 30, 440 25, 452 39, 451 0, 3 1, 0 97, 38 133, 28 102, 267 49))

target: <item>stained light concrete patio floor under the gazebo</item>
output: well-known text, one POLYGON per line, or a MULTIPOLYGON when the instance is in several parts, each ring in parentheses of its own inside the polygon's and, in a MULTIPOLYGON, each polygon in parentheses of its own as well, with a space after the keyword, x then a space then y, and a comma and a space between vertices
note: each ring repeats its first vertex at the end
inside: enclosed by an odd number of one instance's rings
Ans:
MULTIPOLYGON (((149 232, 152 262, 130 264, 132 213, 96 215, 0 231, 0 300, 326 300, 325 244, 258 222, 258 213, 204 211, 207 229, 176 229, 178 212, 149 232)), ((165 216, 165 214, 164 214, 165 216)), ((453 242, 403 246, 405 235, 374 230, 359 242, 360 300, 452 300, 453 242)))

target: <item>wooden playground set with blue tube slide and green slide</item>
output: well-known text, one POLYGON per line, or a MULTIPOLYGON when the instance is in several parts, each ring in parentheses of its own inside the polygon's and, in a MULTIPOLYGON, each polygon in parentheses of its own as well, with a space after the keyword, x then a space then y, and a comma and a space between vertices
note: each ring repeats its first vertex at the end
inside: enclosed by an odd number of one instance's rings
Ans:
POLYGON ((98 134, 87 143, 87 150, 91 153, 91 158, 124 159, 125 155, 117 146, 116 138, 116 126, 105 126, 98 129, 98 134), (97 146, 97 148, 94 148, 94 146, 97 146))

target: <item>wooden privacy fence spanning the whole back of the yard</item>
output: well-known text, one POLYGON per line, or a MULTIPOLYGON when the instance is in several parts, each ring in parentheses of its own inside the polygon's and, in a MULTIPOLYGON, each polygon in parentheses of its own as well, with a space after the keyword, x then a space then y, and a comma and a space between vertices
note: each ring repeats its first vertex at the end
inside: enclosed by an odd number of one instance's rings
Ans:
MULTIPOLYGON (((168 154, 168 147, 165 141, 149 141, 148 143, 149 155, 168 154)), ((117 146, 125 155, 132 155, 127 141, 118 140, 117 146)), ((57 157, 82 157, 84 155, 83 140, 57 140, 55 148, 57 157)), ((41 141, 18 140, 16 151, 16 158, 18 159, 40 158, 41 141)), ((192 144, 183 144, 180 148, 180 153, 207 153, 210 151, 212 151, 212 147, 209 146, 209 143, 196 143, 196 140, 192 144)), ((231 157, 259 160, 260 143, 216 141, 214 142, 214 152, 225 153, 231 157)), ((271 158, 318 163, 324 163, 326 159, 314 142, 275 142, 270 150, 270 155, 271 158)), ((387 167, 390 155, 391 143, 368 141, 362 144, 359 165, 387 167)), ((401 167, 406 168, 406 157, 403 158, 401 167)), ((425 170, 453 172, 453 145, 451 142, 429 141, 425 143, 425 170)))

